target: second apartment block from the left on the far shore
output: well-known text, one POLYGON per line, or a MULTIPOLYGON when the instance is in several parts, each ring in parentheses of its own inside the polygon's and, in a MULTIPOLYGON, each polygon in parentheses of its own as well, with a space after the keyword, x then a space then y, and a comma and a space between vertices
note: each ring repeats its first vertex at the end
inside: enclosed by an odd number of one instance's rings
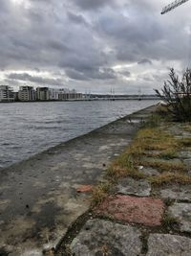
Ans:
POLYGON ((32 86, 20 86, 18 91, 18 100, 21 102, 35 101, 35 91, 32 86))

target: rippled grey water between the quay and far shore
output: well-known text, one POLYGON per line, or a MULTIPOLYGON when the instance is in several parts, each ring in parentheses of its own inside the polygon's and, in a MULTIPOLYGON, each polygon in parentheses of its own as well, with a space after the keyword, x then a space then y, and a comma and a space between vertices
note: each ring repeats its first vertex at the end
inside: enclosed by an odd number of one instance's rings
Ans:
POLYGON ((156 101, 0 104, 0 167, 99 128, 156 101))

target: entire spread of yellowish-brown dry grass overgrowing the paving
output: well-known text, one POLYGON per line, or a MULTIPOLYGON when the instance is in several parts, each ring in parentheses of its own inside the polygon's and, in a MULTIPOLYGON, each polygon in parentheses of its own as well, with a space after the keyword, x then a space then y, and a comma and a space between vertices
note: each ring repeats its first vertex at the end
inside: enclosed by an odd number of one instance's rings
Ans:
POLYGON ((160 125, 159 116, 155 118, 154 115, 152 122, 139 129, 132 144, 117 157, 107 170, 105 178, 108 181, 100 183, 94 188, 93 206, 108 196, 112 187, 121 177, 147 178, 154 186, 191 183, 191 177, 185 175, 187 168, 184 164, 170 160, 178 156, 178 151, 182 147, 191 146, 191 138, 176 139, 165 131, 165 124, 162 124, 162 129, 158 125, 160 125), (153 123, 157 125, 152 127, 153 123), (138 170, 140 165, 158 169, 161 174, 148 177, 138 170))

